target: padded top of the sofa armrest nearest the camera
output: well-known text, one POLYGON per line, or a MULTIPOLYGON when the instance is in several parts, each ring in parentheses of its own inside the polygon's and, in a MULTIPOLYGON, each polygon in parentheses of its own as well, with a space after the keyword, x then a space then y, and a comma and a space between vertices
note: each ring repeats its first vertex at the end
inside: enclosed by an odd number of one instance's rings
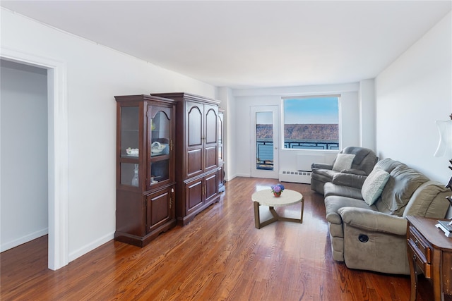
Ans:
POLYGON ((355 207, 340 208, 338 214, 343 223, 355 228, 395 235, 406 235, 407 233, 408 221, 403 217, 355 207))

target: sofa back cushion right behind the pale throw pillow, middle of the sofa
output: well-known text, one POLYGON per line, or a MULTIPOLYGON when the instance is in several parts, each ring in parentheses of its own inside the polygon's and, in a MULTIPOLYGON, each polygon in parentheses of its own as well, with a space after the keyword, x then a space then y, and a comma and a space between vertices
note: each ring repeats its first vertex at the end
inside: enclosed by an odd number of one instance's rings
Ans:
POLYGON ((375 206, 380 212, 402 216, 412 194, 428 180, 429 178, 419 171, 398 162, 398 165, 389 173, 388 183, 381 192, 381 198, 375 202, 375 206))

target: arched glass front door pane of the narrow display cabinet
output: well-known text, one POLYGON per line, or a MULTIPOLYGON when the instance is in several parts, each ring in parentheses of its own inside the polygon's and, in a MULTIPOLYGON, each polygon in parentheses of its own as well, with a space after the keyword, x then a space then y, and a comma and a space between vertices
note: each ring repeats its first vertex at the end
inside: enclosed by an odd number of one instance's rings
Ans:
POLYGON ((148 152, 148 187, 170 179, 172 150, 171 108, 152 106, 148 109, 150 139, 148 152))

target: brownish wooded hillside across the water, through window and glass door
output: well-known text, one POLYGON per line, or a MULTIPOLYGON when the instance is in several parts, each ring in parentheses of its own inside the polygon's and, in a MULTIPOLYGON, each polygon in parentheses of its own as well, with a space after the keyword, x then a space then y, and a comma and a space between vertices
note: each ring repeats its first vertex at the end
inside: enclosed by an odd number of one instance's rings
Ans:
MULTIPOLYGON (((271 138, 272 133, 272 125, 256 125, 256 135, 258 139, 271 138)), ((284 125, 284 133, 286 139, 290 140, 339 140, 339 125, 286 124, 284 125)))

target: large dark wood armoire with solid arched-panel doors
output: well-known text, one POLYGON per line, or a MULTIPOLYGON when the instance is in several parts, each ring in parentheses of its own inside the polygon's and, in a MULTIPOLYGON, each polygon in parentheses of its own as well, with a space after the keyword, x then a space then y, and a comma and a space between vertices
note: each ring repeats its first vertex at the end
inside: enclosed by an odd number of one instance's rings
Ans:
POLYGON ((176 217, 186 225, 218 202, 218 104, 188 93, 152 94, 177 101, 176 217))

